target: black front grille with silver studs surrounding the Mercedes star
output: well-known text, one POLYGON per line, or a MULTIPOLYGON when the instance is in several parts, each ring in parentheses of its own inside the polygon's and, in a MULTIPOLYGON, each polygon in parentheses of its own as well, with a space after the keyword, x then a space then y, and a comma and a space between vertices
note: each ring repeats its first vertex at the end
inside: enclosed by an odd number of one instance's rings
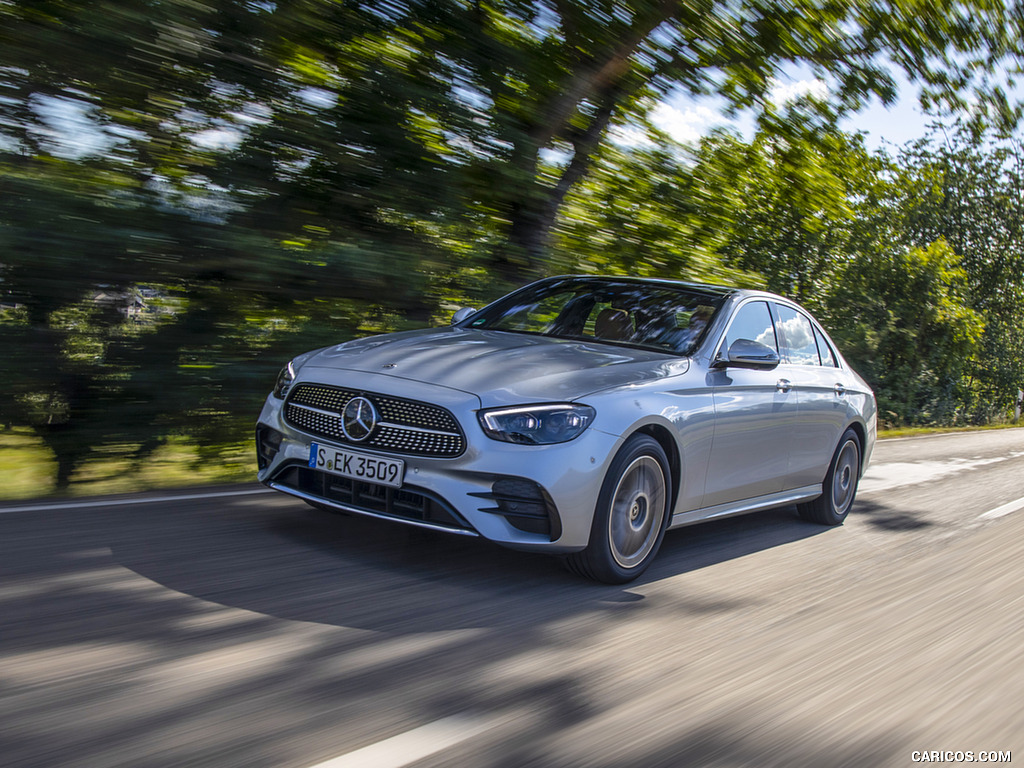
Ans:
POLYGON ((451 459, 466 450, 459 422, 439 406, 327 384, 296 386, 285 403, 285 421, 319 437, 393 454, 451 459), (342 412, 359 396, 374 404, 380 421, 366 439, 356 441, 342 429, 342 412))

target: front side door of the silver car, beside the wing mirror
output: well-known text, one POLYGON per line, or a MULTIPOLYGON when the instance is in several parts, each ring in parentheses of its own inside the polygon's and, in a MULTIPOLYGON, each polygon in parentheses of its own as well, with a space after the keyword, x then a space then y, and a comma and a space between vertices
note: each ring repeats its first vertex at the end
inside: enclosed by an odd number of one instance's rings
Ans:
MULTIPOLYGON (((736 339, 777 351, 767 301, 748 301, 735 310, 718 346, 720 353, 736 339)), ((715 402, 715 434, 702 506, 781 490, 790 463, 790 433, 798 417, 796 394, 775 370, 713 368, 708 380, 715 402)))

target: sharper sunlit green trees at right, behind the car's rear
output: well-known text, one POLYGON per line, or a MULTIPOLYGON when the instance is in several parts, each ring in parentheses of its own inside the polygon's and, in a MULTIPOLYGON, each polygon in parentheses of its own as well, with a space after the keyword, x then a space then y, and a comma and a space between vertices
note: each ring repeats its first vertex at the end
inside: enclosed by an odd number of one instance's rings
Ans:
POLYGON ((959 126, 892 157, 843 133, 760 134, 697 157, 737 201, 718 256, 813 307, 888 423, 1010 410, 1024 381, 1016 141, 959 126))

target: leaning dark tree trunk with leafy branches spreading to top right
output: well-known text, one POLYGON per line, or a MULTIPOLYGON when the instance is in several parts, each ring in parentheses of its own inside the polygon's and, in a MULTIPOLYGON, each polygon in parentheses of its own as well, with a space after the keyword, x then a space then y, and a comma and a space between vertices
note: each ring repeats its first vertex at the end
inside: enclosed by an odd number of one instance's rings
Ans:
POLYGON ((806 66, 834 85, 840 114, 895 95, 893 70, 950 104, 1018 53, 1016 15, 1001 3, 516 2, 451 6, 456 37, 438 41, 487 128, 469 162, 500 230, 490 265, 510 281, 544 269, 559 211, 606 128, 669 92, 724 95, 776 117, 767 98, 783 68, 806 66), (470 45, 466 45, 466 41, 470 45), (446 45, 445 45, 446 43, 446 45), (557 162, 546 162, 554 151, 557 162))

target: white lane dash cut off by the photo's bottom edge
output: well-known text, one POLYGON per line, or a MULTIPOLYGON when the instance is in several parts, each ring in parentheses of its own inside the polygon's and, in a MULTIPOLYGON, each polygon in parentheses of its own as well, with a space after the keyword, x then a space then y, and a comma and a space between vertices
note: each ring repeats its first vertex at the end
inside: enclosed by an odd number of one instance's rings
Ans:
POLYGON ((317 763, 312 768, 401 768, 465 741, 488 727, 482 720, 455 715, 317 763))

